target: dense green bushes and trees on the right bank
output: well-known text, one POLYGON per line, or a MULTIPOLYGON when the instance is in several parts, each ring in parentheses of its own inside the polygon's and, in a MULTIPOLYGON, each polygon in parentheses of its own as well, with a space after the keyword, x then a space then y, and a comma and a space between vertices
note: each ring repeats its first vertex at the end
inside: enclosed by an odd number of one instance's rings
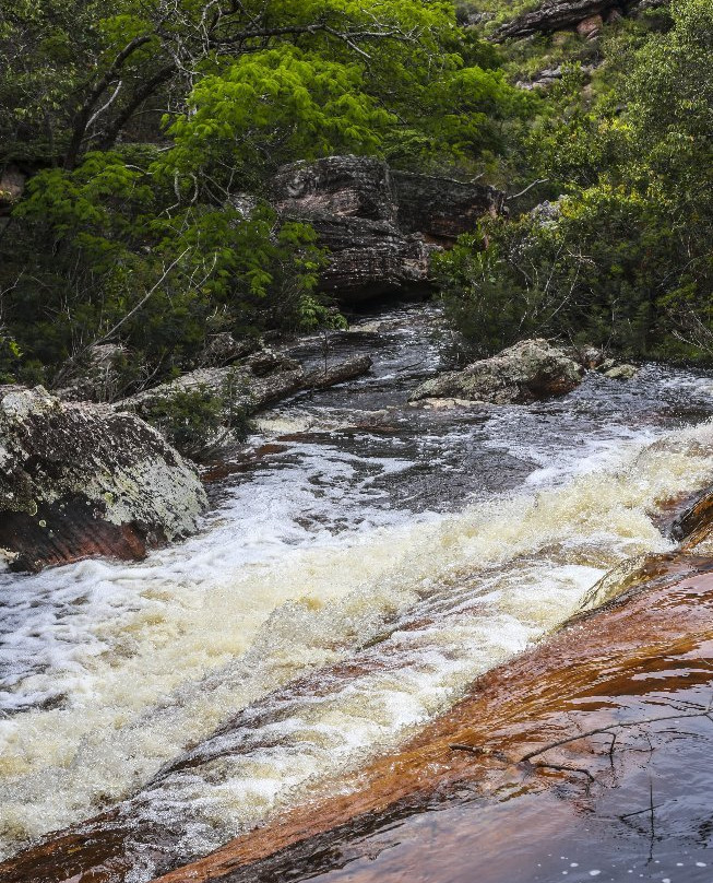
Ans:
POLYGON ((486 352, 540 334, 710 360, 713 5, 619 21, 594 47, 555 35, 510 48, 513 76, 555 64, 519 161, 543 180, 535 201, 559 199, 445 257, 452 315, 486 352))

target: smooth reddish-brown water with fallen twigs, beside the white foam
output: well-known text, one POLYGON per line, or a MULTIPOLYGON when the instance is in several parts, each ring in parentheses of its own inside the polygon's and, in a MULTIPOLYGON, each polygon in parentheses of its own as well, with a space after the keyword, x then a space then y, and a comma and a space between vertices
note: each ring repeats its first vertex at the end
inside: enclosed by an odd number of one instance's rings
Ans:
POLYGON ((713 879, 713 560, 659 569, 484 675, 356 794, 162 883, 713 879))

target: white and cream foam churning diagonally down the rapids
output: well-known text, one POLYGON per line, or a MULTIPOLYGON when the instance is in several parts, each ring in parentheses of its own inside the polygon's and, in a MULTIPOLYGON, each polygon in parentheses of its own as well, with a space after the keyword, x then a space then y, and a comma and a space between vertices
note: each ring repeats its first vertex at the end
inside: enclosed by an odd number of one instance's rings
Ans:
POLYGON ((233 499, 204 534, 143 564, 13 577, 36 607, 10 652, 41 652, 46 669, 19 676, 7 707, 52 688, 67 698, 0 721, 5 851, 141 787, 292 679, 371 654, 381 664, 274 709, 236 737, 243 755, 176 774, 132 811, 170 817, 188 855, 357 768, 562 622, 606 569, 668 549, 650 514, 709 481, 712 454, 705 424, 625 446, 607 469, 537 493, 454 516, 392 513, 310 542, 276 527, 292 504, 273 501, 254 527, 233 499))

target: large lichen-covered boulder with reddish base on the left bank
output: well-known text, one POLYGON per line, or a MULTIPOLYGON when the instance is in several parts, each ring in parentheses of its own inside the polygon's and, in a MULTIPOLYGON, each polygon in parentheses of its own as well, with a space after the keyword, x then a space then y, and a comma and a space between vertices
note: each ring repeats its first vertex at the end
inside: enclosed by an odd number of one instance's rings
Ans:
POLYGON ((143 421, 43 387, 1 396, 0 469, 0 549, 17 569, 141 558, 193 532, 206 503, 193 469, 143 421))

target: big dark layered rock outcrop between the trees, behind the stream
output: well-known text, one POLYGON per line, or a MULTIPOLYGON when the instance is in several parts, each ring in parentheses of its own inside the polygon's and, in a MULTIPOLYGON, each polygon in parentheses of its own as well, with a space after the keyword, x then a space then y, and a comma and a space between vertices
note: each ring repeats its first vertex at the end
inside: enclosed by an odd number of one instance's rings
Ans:
POLYGON ((359 156, 294 163, 273 183, 278 211, 308 220, 330 251, 321 290, 346 303, 427 290, 433 249, 503 201, 492 187, 396 173, 359 156))

